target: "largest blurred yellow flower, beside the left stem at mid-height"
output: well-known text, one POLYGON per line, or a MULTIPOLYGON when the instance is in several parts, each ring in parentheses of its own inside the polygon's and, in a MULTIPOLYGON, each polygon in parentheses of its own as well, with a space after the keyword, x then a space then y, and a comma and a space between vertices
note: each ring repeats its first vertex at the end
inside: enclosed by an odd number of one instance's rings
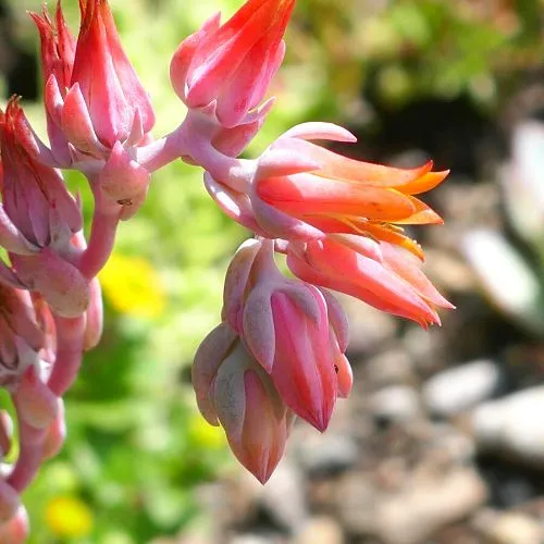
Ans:
POLYGON ((164 311, 164 288, 146 259, 114 254, 99 279, 104 297, 115 310, 139 318, 156 318, 164 311))

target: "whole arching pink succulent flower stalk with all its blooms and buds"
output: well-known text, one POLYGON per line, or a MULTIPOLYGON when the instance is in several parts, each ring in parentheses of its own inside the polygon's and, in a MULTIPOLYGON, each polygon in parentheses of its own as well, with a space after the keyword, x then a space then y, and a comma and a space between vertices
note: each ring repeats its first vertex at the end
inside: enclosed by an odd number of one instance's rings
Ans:
MULTIPOLYGON (((151 135, 151 100, 125 55, 107 0, 79 0, 77 38, 60 3, 32 14, 41 40, 49 141, 17 98, 0 113, 0 385, 13 400, 18 457, 0 480, 1 542, 28 531, 20 494, 65 435, 62 396, 85 350, 100 339, 97 273, 120 221, 145 201, 152 173, 183 160, 203 170, 211 198, 255 233, 226 273, 221 323, 193 368, 198 406, 221 424, 238 460, 265 482, 298 416, 324 431, 351 387, 348 323, 334 295, 351 295, 426 327, 452 308, 420 270, 423 252, 405 224, 441 223, 415 195, 447 172, 428 162, 400 170, 351 160, 314 144, 355 137, 305 123, 256 159, 240 159, 273 99, 283 35, 295 0, 248 0, 226 23, 208 20, 174 52, 170 76, 187 107, 166 136, 151 135), (88 180, 88 239, 82 202, 61 169, 88 180), (292 272, 276 265, 283 256, 292 272)), ((0 447, 12 422, 0 417, 0 447)), ((10 540, 11 539, 11 540, 10 540)))

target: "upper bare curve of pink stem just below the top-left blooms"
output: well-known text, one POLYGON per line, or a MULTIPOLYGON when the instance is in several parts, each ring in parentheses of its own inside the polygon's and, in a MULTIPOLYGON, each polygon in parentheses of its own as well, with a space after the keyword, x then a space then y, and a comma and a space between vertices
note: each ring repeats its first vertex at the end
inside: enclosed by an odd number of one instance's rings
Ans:
POLYGON ((91 280, 110 258, 123 207, 107 201, 96 180, 90 178, 89 183, 95 197, 95 212, 88 246, 81 254, 76 265, 85 277, 91 280))

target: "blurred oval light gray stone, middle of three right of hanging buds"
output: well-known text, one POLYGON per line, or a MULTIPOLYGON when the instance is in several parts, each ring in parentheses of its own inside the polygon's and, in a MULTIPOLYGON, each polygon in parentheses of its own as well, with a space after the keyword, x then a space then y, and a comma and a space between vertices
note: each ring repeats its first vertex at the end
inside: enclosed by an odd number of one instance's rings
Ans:
POLYGON ((422 390, 423 400, 437 416, 456 416, 490 398, 500 379, 500 370, 492 360, 468 362, 428 380, 422 390))

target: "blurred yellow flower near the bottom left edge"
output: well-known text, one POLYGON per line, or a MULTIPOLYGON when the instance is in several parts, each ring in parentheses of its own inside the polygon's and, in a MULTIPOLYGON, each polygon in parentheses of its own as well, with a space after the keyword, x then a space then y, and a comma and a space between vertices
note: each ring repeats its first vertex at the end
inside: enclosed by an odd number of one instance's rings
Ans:
POLYGON ((46 523, 57 536, 84 537, 92 530, 90 508, 79 498, 54 497, 46 506, 46 523))

